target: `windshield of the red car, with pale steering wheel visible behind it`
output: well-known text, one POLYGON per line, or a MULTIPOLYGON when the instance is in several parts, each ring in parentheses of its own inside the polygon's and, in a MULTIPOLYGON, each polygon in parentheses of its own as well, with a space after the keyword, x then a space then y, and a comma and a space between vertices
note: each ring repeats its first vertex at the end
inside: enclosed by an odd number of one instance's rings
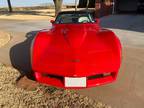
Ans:
POLYGON ((57 16, 56 24, 93 23, 91 14, 87 13, 64 13, 57 16))

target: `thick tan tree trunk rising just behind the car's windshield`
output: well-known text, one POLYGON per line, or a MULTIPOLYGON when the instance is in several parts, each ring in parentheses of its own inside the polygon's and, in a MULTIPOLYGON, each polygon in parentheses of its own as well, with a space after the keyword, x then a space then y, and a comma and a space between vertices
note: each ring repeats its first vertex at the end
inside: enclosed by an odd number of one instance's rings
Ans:
POLYGON ((63 0, 53 0, 55 5, 55 16, 61 11, 63 0))

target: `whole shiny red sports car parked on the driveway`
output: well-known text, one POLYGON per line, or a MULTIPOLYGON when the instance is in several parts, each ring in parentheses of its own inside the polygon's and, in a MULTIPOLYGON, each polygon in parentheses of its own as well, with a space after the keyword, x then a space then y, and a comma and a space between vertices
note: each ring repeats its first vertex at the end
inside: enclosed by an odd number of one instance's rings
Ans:
POLYGON ((32 69, 40 83, 62 88, 87 88, 116 80, 121 44, 99 26, 90 12, 67 11, 40 31, 31 46, 32 69))

